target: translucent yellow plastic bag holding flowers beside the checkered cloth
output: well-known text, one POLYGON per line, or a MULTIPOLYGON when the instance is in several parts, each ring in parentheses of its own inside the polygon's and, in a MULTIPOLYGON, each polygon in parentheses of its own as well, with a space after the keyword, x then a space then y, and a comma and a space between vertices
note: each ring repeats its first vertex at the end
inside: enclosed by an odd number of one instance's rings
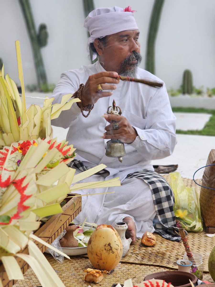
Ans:
POLYGON ((199 195, 194 187, 186 187, 179 172, 170 172, 170 186, 174 192, 173 207, 176 226, 187 231, 201 232, 202 217, 199 195))

